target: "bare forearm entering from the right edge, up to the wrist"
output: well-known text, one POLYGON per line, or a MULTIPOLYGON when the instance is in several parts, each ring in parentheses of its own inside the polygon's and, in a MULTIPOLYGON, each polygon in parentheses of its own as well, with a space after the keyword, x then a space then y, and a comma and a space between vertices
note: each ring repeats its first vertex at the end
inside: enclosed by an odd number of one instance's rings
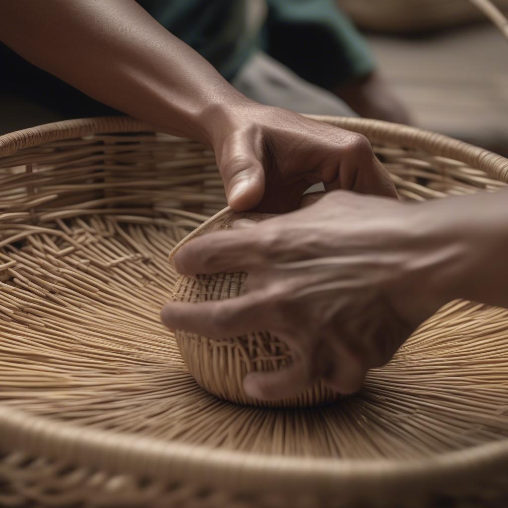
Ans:
POLYGON ((415 241, 426 244, 417 269, 425 287, 445 299, 508 307, 507 205, 508 190, 424 204, 415 241))

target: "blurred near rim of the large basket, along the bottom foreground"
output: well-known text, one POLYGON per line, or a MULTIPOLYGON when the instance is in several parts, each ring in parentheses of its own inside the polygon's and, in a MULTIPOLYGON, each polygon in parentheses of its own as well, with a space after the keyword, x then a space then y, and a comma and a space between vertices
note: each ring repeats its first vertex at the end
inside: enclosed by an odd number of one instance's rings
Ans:
POLYGON ((22 451, 110 474, 188 481, 239 491, 320 490, 361 494, 365 489, 452 485, 464 475, 488 478, 508 471, 508 439, 424 459, 284 457, 161 441, 85 428, 0 405, 0 450, 22 451), (296 481, 296 482, 295 482, 296 481))

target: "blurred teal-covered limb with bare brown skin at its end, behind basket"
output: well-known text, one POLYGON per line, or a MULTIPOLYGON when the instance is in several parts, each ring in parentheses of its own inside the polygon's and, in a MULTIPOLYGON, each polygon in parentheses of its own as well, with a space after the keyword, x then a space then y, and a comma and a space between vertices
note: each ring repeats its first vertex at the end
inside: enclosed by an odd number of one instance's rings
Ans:
POLYGON ((268 0, 266 50, 360 116, 410 123, 366 39, 334 0, 268 0))

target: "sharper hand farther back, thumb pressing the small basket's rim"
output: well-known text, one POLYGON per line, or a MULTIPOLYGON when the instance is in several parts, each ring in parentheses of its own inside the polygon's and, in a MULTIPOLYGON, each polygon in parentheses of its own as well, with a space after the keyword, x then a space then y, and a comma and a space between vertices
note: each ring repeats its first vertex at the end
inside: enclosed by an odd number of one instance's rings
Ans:
POLYGON ((243 101, 209 112, 212 145, 228 202, 237 211, 295 210, 316 182, 325 188, 396 197, 365 136, 291 111, 243 101))

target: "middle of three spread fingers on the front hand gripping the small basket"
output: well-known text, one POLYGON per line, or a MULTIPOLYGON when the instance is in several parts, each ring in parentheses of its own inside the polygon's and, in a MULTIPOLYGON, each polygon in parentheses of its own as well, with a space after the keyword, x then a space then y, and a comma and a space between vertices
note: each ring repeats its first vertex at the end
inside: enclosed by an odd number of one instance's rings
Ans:
POLYGON ((198 303, 168 302, 161 310, 161 320, 169 329, 218 339, 260 331, 269 319, 262 293, 198 303))

